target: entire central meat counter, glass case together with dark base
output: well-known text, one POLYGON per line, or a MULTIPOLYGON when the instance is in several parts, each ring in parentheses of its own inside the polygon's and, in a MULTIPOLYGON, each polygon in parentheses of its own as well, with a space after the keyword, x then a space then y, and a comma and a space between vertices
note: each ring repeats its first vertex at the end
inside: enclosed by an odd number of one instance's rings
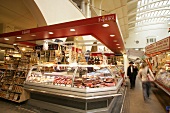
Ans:
POLYGON ((122 82, 120 73, 111 65, 47 64, 31 68, 24 88, 30 92, 32 100, 41 103, 45 101, 72 109, 92 110, 108 107, 115 96, 121 95, 118 92, 122 82), (48 100, 51 95, 52 100, 48 100), (72 100, 82 106, 56 102, 54 98, 72 100))

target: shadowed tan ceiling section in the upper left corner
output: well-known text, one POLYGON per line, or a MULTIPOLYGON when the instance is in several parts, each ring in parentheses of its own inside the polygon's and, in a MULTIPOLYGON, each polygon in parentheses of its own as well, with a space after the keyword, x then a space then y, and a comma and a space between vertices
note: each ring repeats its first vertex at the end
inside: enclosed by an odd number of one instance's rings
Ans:
POLYGON ((37 26, 37 22, 23 0, 0 0, 0 15, 0 23, 15 26, 14 30, 37 26))

